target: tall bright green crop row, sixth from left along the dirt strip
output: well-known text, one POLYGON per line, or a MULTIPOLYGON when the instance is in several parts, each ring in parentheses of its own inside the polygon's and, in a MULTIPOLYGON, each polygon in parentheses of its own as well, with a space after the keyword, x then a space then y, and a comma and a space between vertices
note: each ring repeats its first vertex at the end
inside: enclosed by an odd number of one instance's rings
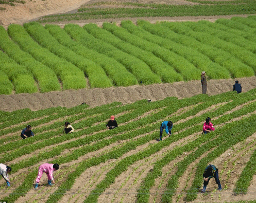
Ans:
POLYGON ((60 44, 69 47, 82 57, 89 58, 99 64, 105 70, 115 86, 130 86, 138 84, 136 78, 116 60, 107 57, 105 54, 88 49, 79 42, 72 40, 70 36, 59 26, 45 25, 45 28, 58 40, 60 44))

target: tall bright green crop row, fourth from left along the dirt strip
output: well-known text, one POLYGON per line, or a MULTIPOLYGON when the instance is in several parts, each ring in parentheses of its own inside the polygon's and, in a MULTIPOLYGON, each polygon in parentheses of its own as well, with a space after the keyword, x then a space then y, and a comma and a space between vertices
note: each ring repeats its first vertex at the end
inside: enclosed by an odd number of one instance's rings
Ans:
MULTIPOLYGON (((12 24, 8 27, 8 33, 11 39, 18 43, 24 51, 27 51, 33 58, 55 71, 56 75, 61 79, 63 89, 79 89, 86 87, 84 74, 79 68, 66 60, 60 59, 47 49, 42 48, 30 38, 29 34, 22 26, 12 24)), ((44 77, 47 76, 48 75, 44 75, 44 77)))

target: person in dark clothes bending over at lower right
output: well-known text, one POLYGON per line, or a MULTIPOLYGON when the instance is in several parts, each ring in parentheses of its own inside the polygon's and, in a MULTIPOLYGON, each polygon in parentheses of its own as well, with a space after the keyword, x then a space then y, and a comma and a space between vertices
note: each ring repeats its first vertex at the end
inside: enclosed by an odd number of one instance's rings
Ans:
POLYGON ((218 175, 218 169, 215 167, 215 165, 208 165, 206 169, 204 169, 203 172, 203 189, 201 190, 202 193, 206 192, 206 187, 209 183, 209 180, 214 177, 215 182, 218 184, 218 190, 222 190, 221 184, 219 181, 219 175, 218 175))

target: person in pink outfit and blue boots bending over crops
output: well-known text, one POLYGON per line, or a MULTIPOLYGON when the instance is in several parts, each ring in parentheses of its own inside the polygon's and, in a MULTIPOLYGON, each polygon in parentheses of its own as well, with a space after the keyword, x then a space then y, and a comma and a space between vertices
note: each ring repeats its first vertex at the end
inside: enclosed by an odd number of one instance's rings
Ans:
POLYGON ((58 163, 43 163, 42 165, 40 165, 39 169, 38 169, 38 175, 37 175, 37 179, 36 179, 36 184, 35 184, 35 189, 38 188, 38 183, 40 182, 40 179, 43 175, 43 173, 46 173, 47 177, 48 177, 48 185, 52 186, 53 183, 55 184, 54 181, 54 176, 53 176, 53 172, 57 171, 59 169, 59 164, 58 163), (52 183, 53 181, 53 183, 52 183))

